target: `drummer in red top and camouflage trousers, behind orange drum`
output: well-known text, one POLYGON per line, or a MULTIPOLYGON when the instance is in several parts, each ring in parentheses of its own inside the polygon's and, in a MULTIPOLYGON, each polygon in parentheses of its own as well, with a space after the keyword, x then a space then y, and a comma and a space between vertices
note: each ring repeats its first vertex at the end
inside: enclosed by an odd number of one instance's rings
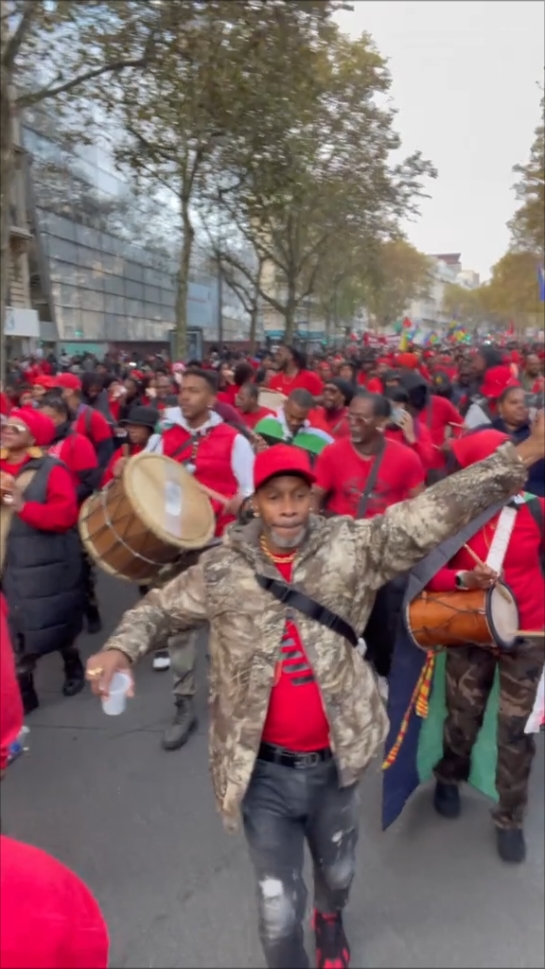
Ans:
MULTIPOLYGON (((483 430, 453 443, 461 468, 484 460, 505 441, 506 434, 483 430)), ((545 517, 545 500, 533 498, 545 517)), ((519 611, 520 628, 543 630, 545 580, 542 531, 528 504, 511 503, 516 511, 512 530, 507 533, 503 561, 487 562, 496 531, 504 529, 504 511, 495 515, 471 538, 467 545, 481 562, 462 548, 446 568, 436 573, 428 588, 436 592, 455 589, 488 589, 502 574, 519 611)), ((507 509, 510 512, 510 509, 507 509)), ((509 528, 509 526, 507 526, 509 528)), ((445 817, 460 813, 458 785, 469 776, 471 751, 480 730, 496 667, 499 668, 498 764, 496 788, 499 804, 494 811, 497 847, 504 861, 521 862, 526 854, 523 818, 528 800, 528 780, 535 746, 525 733, 543 672, 545 635, 526 638, 513 649, 496 653, 477 646, 457 646, 447 651, 447 719, 443 737, 443 757, 435 767, 437 779, 435 808, 445 817)))

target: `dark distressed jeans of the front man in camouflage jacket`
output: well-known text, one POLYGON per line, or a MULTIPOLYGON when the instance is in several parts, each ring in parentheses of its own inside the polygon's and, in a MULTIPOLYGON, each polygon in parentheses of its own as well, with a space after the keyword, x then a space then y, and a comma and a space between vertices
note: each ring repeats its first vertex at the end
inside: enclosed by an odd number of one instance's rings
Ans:
POLYGON ((333 760, 304 770, 256 761, 243 802, 244 831, 257 876, 259 935, 270 969, 303 969, 304 845, 314 864, 314 905, 344 908, 355 871, 356 785, 339 787, 333 760))

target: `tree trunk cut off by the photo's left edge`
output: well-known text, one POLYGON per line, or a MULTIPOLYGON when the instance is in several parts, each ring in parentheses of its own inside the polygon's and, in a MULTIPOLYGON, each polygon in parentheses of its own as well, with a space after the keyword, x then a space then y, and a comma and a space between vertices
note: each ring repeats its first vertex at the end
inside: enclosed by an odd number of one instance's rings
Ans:
POLYGON ((0 368, 7 372, 7 345, 4 328, 9 289, 9 226, 13 191, 13 126, 12 98, 8 78, 2 76, 0 89, 0 368))

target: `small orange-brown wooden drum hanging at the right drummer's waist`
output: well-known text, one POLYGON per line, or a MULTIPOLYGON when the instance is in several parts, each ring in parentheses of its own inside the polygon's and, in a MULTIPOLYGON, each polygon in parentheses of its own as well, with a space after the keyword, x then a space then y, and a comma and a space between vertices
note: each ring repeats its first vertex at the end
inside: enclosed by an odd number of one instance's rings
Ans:
POLYGON ((492 589, 422 592, 407 607, 406 626, 421 649, 473 644, 512 649, 519 615, 515 598, 503 584, 492 589))

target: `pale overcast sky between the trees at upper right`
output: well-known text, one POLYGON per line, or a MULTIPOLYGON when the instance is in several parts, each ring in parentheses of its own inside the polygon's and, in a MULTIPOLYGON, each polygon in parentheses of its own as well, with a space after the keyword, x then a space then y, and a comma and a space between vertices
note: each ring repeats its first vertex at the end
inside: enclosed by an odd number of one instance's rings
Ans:
POLYGON ((408 154, 439 170, 407 231, 424 252, 461 252, 487 278, 505 252, 511 169, 529 155, 545 64, 542 0, 356 0, 339 14, 389 58, 397 128, 408 154))

